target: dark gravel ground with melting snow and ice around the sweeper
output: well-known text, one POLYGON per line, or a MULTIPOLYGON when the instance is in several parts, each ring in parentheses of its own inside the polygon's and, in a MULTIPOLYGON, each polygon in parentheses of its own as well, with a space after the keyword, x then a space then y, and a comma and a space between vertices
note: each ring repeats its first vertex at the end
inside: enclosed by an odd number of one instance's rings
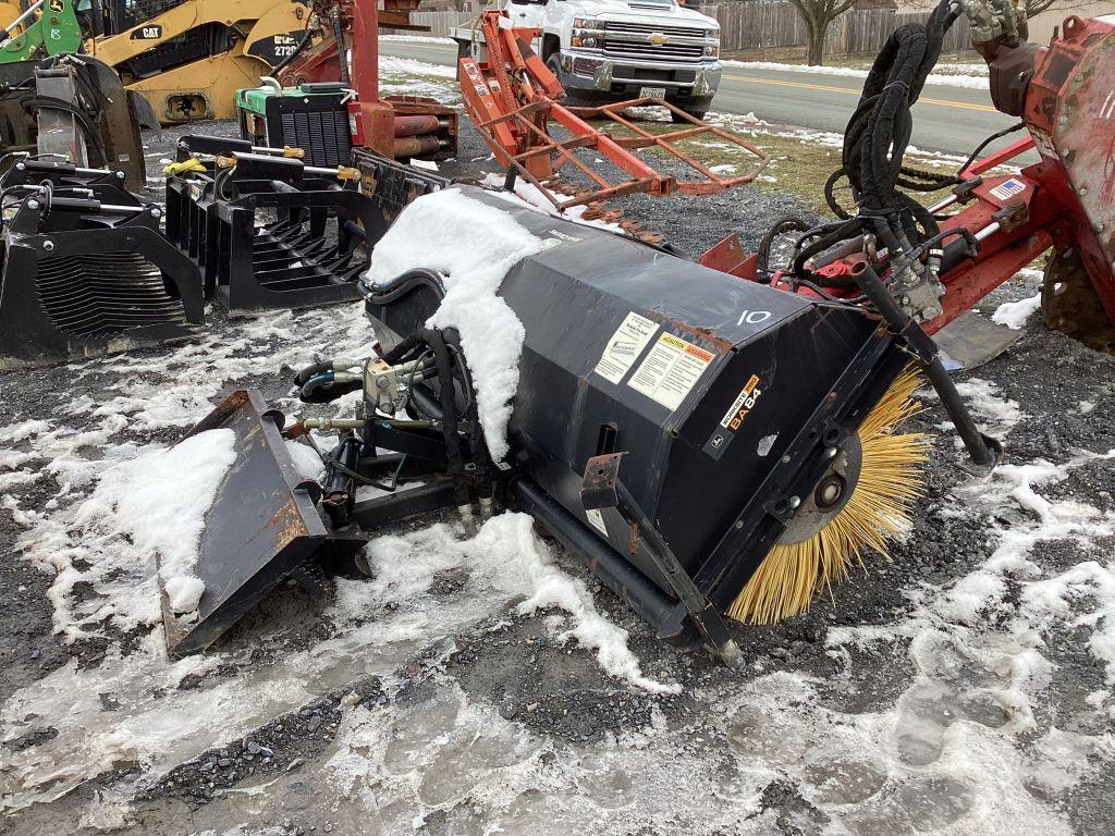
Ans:
MULTIPOLYGON (((151 158, 169 156, 174 138, 153 142, 151 158)), ((466 127, 458 162, 443 172, 479 176, 489 165, 466 127)), ((749 188, 624 208, 689 252, 730 231, 753 245, 773 220, 807 212, 749 188)), ((1027 274, 982 309, 1036 292, 1027 274)), ((418 593, 345 587, 367 596, 356 614, 283 591, 203 663, 161 660, 157 641, 151 648, 158 629, 125 629, 105 613, 86 638, 56 633, 59 596, 74 605, 98 591, 79 581, 59 592, 62 563, 43 564, 49 548, 29 554, 29 533, 91 489, 48 463, 95 465, 127 443, 173 441, 187 418, 245 385, 283 398, 279 364, 312 353, 338 317, 255 327, 214 312, 196 353, 152 348, 124 362, 0 373, 4 422, 67 430, 11 444, 31 454, 19 466, 29 476, 2 483, 0 544, 11 556, 0 564, 0 830, 1115 833, 1105 650, 1115 643, 1104 644, 1115 619, 1115 472, 1103 457, 1113 361, 1037 318, 1006 353, 962 376, 1008 465, 990 479, 964 473, 928 397, 913 424, 938 432, 934 455, 893 563, 872 563, 807 615, 736 625, 741 670, 663 647, 585 579, 642 671, 676 692, 608 675, 594 653, 563 640, 558 611, 525 614, 478 593, 468 563, 432 572, 418 593), (245 352, 258 362, 222 364, 245 352), (132 405, 124 426, 90 444, 76 438, 96 427, 71 409, 83 396, 142 399, 206 364, 213 378, 171 418, 145 420, 132 405), (1018 560, 1000 553, 1008 546, 1018 560), (1093 580, 1073 581, 1084 566, 1093 580), (1055 594, 1061 586, 1049 583, 1067 576, 1069 592, 1055 594)), ((391 533, 420 553, 414 526, 391 533)), ((91 571, 81 561, 72 567, 91 571)))

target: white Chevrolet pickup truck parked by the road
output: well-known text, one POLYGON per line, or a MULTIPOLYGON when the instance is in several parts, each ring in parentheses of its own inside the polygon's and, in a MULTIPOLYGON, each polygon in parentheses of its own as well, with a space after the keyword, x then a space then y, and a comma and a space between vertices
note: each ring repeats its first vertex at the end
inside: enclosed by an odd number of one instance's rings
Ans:
MULTIPOLYGON (((663 98, 704 117, 720 84, 720 26, 675 0, 504 0, 575 104, 663 98)), ((479 57, 473 30, 455 29, 462 57, 479 57)))

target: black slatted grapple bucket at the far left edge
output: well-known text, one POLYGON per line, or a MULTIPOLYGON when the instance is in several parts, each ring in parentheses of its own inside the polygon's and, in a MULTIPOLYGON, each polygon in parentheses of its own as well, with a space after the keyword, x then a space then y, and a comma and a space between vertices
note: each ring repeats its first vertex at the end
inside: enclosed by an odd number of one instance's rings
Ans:
POLYGON ((196 266, 124 172, 19 158, 0 177, 0 367, 192 337, 196 266))

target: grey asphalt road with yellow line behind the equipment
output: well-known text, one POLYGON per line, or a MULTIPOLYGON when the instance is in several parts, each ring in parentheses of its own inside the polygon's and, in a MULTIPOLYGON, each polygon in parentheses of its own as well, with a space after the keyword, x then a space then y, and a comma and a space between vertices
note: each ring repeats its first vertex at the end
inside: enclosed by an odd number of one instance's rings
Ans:
MULTIPOLYGON (((379 49, 384 55, 446 66, 455 64, 457 55, 447 43, 382 40, 379 49)), ((862 78, 850 76, 729 66, 712 107, 721 113, 754 113, 769 123, 843 133, 862 87, 862 78)), ((1014 121, 991 106, 987 90, 927 85, 914 106, 912 143, 923 150, 967 156, 980 139, 1014 121)))

